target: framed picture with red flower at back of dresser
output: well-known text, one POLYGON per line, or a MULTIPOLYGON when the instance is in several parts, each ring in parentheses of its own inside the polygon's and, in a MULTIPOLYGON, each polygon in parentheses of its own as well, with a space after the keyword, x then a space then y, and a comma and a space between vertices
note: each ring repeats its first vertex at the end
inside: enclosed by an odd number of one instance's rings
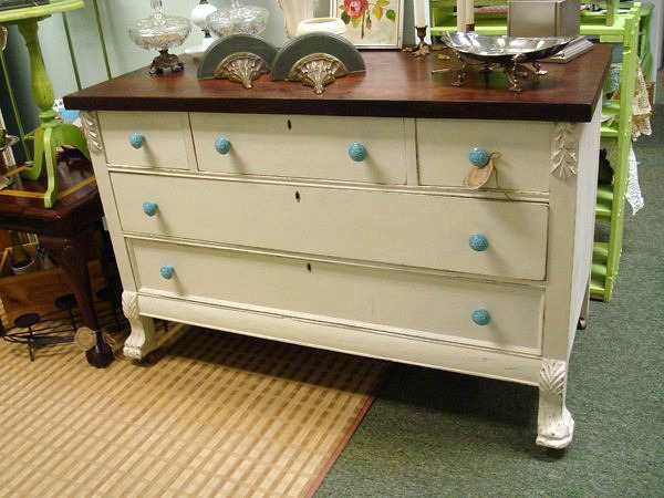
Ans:
POLYGON ((330 15, 346 25, 357 49, 401 49, 404 0, 332 0, 330 15))

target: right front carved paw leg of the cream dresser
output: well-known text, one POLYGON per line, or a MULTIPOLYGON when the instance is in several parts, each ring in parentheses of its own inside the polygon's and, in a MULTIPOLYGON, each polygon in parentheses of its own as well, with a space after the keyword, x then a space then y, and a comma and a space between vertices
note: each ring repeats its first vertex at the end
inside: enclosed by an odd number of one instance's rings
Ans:
POLYGON ((567 363, 543 360, 539 382, 537 440, 540 446, 562 449, 574 434, 574 419, 564 405, 567 363))

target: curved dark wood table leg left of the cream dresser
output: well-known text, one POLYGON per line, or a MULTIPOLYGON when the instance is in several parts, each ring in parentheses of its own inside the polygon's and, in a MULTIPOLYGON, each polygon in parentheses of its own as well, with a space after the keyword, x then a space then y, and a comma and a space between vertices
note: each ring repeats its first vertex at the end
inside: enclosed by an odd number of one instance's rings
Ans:
POLYGON ((87 363, 102 369, 113 361, 113 351, 102 339, 102 331, 94 311, 92 287, 87 272, 87 246, 92 240, 92 230, 85 230, 72 238, 40 236, 39 240, 62 268, 72 284, 85 324, 95 331, 96 344, 85 352, 85 356, 87 363))

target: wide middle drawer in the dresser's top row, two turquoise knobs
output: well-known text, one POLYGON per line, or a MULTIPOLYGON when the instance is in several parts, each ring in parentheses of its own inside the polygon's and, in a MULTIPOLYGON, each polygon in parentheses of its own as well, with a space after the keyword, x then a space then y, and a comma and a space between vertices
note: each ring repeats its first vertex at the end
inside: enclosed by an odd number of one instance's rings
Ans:
POLYGON ((190 120, 203 172, 406 183, 401 118, 193 113, 190 120), (218 151, 219 139, 227 153, 218 151), (349 154, 355 142, 366 151, 364 160, 349 154))

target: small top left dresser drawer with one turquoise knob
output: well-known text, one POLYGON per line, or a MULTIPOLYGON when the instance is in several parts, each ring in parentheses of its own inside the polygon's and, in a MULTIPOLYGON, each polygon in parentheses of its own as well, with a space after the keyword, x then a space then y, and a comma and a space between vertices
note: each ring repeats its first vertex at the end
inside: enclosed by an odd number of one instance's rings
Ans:
POLYGON ((195 163, 187 113, 103 111, 98 122, 111 165, 190 169, 195 163))

